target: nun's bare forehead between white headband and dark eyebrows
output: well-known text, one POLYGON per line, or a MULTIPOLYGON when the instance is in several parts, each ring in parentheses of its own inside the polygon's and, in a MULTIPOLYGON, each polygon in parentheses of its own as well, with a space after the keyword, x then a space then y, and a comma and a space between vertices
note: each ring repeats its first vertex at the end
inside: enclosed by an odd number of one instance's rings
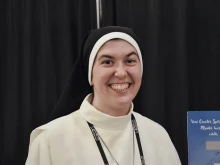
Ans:
POLYGON ((127 41, 122 39, 112 39, 107 41, 99 49, 97 56, 111 53, 137 53, 136 49, 127 41))

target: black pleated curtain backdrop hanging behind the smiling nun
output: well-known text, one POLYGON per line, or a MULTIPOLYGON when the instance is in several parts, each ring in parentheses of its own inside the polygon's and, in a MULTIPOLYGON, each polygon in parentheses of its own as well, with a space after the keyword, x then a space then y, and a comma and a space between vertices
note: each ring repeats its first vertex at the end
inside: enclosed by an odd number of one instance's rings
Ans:
MULTIPOLYGON (((46 122, 83 37, 96 28, 95 6, 95 0, 2 1, 2 165, 24 165, 31 131, 46 122)), ((220 109, 220 1, 103 0, 102 7, 101 26, 128 26, 141 40, 135 111, 168 131, 187 165, 187 111, 220 109)))

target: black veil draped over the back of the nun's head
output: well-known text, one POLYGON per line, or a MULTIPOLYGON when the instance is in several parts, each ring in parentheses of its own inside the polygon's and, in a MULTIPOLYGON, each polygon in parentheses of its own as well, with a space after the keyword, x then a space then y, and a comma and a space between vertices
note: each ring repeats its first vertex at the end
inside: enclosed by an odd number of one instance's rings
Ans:
POLYGON ((91 30, 85 37, 80 54, 71 71, 66 86, 50 114, 49 121, 68 115, 80 108, 84 98, 93 92, 88 80, 88 65, 90 53, 95 43, 105 34, 111 32, 123 32, 131 36, 139 45, 136 34, 127 27, 108 26, 91 30))

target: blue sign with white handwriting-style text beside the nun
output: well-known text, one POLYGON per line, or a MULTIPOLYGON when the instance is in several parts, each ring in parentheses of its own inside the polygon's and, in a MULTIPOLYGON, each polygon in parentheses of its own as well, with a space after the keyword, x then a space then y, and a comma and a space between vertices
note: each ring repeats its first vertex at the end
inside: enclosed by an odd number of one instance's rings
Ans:
POLYGON ((189 165, 220 165, 220 111, 188 111, 189 165))

